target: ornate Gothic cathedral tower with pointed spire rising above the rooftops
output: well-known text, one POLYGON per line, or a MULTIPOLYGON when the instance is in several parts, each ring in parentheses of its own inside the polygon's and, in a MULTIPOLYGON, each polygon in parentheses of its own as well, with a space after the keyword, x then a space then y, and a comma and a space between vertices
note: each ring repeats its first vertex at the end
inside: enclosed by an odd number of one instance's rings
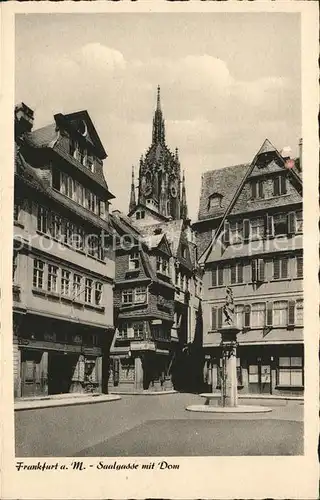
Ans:
MULTIPOLYGON (((152 143, 140 159, 137 206, 144 206, 168 219, 187 219, 185 178, 181 181, 178 149, 173 154, 165 141, 165 122, 161 110, 160 87, 152 124, 152 143)), ((129 213, 136 208, 132 180, 129 213)))

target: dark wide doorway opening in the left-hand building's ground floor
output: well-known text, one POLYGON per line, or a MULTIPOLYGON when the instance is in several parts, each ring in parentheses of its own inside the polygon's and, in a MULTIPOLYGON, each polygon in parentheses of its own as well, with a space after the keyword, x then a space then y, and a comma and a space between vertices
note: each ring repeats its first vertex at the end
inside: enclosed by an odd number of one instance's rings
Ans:
POLYGON ((77 356, 50 352, 48 358, 48 394, 70 392, 77 356))

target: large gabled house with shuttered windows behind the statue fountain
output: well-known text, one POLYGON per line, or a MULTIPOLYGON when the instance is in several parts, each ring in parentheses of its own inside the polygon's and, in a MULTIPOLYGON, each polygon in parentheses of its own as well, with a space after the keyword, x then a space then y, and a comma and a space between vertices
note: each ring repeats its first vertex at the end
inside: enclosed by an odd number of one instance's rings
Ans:
POLYGON ((204 376, 213 391, 226 286, 240 329, 240 393, 303 391, 301 169, 266 140, 251 164, 203 175, 194 229, 204 271, 204 376))

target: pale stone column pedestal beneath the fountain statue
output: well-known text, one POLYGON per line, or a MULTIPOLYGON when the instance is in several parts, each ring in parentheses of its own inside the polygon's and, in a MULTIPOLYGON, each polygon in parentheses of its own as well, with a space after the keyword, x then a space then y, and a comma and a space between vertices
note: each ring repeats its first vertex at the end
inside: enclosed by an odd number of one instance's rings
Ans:
POLYGON ((225 326, 219 330, 222 348, 221 406, 238 405, 237 334, 239 328, 225 326))

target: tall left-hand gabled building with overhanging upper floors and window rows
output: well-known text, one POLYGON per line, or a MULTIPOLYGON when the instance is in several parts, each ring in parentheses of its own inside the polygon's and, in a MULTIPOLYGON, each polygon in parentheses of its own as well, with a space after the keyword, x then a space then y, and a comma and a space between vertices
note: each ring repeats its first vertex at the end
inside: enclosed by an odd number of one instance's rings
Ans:
POLYGON ((115 262, 107 154, 87 111, 15 108, 15 397, 107 391, 115 262))

